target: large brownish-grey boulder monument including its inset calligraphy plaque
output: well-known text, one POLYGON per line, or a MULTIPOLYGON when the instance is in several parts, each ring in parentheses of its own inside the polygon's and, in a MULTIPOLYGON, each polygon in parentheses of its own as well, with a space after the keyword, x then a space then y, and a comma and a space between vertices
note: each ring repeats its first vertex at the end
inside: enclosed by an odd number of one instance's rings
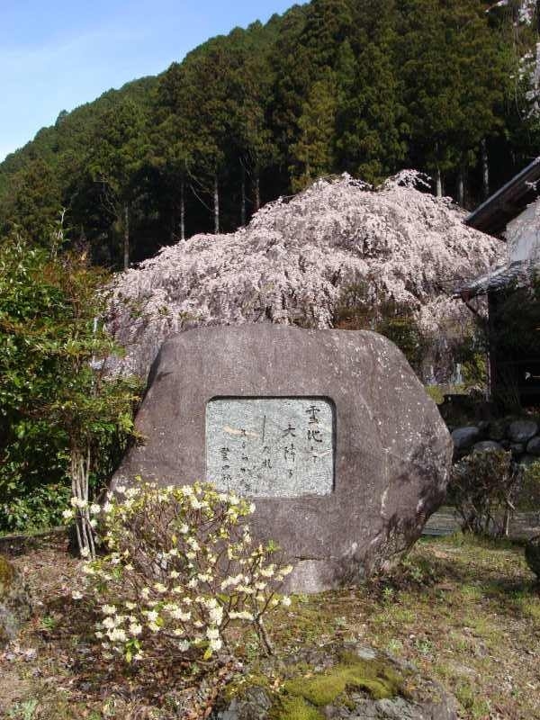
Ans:
POLYGON ((291 590, 351 584, 420 535, 452 441, 405 357, 372 332, 273 325, 168 339, 113 481, 208 480, 253 498, 252 527, 295 565, 291 590))

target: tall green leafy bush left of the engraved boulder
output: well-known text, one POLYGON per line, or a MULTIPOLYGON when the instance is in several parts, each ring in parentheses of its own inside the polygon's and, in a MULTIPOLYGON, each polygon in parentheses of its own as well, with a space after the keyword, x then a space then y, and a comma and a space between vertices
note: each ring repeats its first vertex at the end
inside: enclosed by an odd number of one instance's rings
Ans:
POLYGON ((62 220, 49 248, 0 238, 0 530, 56 522, 58 486, 88 498, 133 437, 139 381, 106 373, 108 280, 62 220))

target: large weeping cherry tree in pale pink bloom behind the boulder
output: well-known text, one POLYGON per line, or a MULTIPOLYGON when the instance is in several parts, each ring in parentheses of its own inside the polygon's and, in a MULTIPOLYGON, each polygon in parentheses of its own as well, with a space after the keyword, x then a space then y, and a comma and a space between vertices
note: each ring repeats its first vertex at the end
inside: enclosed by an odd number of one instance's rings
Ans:
POLYGON ((407 303, 436 336, 468 319, 455 287, 503 262, 504 245, 464 225, 464 211, 402 173, 374 190, 348 175, 263 207, 246 228, 196 235, 119 275, 109 328, 121 368, 148 374, 172 332, 274 322, 331 328, 344 289, 407 303))

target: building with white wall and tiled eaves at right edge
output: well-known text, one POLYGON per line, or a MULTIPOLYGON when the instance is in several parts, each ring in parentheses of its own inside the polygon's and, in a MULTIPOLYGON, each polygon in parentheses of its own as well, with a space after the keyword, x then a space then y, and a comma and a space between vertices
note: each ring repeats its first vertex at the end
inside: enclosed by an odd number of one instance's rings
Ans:
POLYGON ((540 404, 540 157, 482 202, 466 224, 504 239, 508 260, 456 291, 489 307, 491 398, 540 404))

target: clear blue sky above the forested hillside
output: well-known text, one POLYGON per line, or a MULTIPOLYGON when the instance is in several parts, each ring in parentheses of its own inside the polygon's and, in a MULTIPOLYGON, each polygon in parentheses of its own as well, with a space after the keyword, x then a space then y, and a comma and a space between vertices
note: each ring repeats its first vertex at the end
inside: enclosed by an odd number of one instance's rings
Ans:
POLYGON ((61 110, 293 0, 0 0, 0 160, 61 110))

